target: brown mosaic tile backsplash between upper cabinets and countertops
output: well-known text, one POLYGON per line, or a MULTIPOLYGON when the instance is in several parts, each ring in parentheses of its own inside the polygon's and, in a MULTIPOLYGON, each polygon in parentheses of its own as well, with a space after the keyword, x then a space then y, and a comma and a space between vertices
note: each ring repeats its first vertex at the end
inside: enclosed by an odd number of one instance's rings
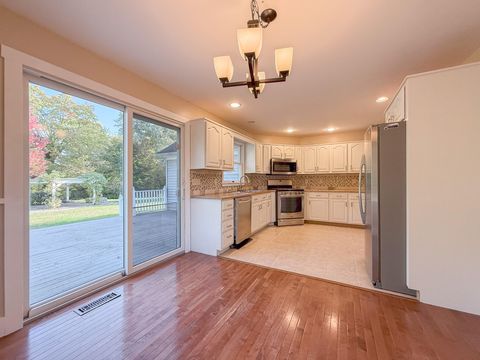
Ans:
MULTIPOLYGON (((316 175, 264 175, 248 174, 249 185, 253 189, 266 189, 267 179, 292 179, 293 186, 306 190, 338 189, 356 191, 358 174, 316 174, 316 175)), ((190 192, 192 195, 232 192, 240 190, 240 186, 223 186, 222 172, 215 170, 190 170, 190 192)))

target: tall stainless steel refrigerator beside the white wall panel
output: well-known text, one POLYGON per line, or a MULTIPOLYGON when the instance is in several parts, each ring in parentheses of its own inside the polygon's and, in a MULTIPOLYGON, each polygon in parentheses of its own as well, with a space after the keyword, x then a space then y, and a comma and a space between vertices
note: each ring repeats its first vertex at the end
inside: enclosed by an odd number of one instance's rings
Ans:
POLYGON ((359 198, 373 285, 415 295, 406 283, 406 126, 405 121, 385 123, 365 132, 359 198))

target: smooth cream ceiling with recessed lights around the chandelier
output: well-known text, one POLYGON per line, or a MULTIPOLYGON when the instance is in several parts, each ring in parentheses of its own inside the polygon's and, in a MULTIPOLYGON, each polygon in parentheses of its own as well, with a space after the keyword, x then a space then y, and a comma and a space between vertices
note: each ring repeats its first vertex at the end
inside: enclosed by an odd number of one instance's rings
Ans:
POLYGON ((249 0, 0 0, 0 4, 258 134, 365 128, 412 73, 460 64, 480 47, 478 0, 258 0, 278 18, 264 31, 260 70, 275 76, 274 49, 294 47, 286 83, 259 99, 223 89, 212 58, 230 55, 245 79, 236 29, 249 0), (228 104, 242 107, 232 110, 228 104), (255 121, 254 124, 249 121, 255 121))

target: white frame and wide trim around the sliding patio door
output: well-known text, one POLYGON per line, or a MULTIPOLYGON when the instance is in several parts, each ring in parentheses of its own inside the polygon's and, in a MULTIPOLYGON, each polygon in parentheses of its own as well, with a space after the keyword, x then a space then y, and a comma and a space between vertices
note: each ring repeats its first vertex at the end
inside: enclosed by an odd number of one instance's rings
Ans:
POLYGON ((148 102, 127 95, 94 80, 85 78, 65 70, 56 65, 35 58, 8 46, 2 45, 1 56, 4 58, 4 86, 9 91, 5 92, 5 307, 4 313, 0 310, 0 336, 20 329, 23 323, 40 314, 52 311, 59 306, 64 306, 97 291, 99 288, 118 282, 138 271, 149 266, 155 265, 166 258, 170 258, 189 251, 190 232, 189 232, 189 126, 188 120, 152 105, 148 102), (35 310, 29 309, 28 299, 28 281, 29 276, 28 261, 28 206, 29 188, 28 188, 28 80, 26 73, 33 72, 47 79, 65 84, 68 87, 78 89, 81 92, 92 94, 92 96, 103 98, 106 101, 112 101, 125 106, 126 123, 124 126, 124 157, 127 163, 124 164, 124 277, 122 274, 113 277, 106 277, 87 284, 86 287, 72 291, 64 297, 58 298, 49 303, 38 306, 35 310), (21 96, 19 96, 21 94, 21 96), (26 98, 25 98, 26 96, 26 98), (146 116, 152 120, 159 121, 178 127, 180 130, 181 141, 181 160, 180 160, 180 196, 181 201, 181 247, 170 253, 164 254, 150 261, 133 266, 132 256, 132 185, 133 176, 132 165, 132 119, 133 113, 146 116), (21 126, 19 126, 21 124, 21 126), (26 130, 25 130, 26 129, 26 130), (126 173, 126 174, 125 174, 126 173), (19 181, 21 177, 21 182, 19 181), (125 191, 127 190, 127 191, 125 191), (10 215, 8 215, 10 214, 10 215), (126 217, 125 217, 126 215, 126 217), (20 241, 21 240, 21 241, 20 241))

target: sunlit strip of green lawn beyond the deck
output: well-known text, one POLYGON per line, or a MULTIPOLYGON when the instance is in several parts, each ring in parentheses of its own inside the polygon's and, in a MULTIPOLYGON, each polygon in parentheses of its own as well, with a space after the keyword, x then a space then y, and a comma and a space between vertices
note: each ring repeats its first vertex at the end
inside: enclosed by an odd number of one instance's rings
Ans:
POLYGON ((80 221, 104 219, 118 215, 118 204, 36 210, 30 212, 30 227, 38 229, 80 221))

